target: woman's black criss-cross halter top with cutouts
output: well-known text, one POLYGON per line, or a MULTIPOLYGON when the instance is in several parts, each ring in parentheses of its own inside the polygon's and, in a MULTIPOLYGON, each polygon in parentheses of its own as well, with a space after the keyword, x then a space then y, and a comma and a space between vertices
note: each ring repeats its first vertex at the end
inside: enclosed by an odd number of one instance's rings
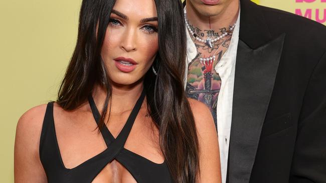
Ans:
MULTIPOLYGON (((113 137, 106 126, 101 130, 107 148, 71 169, 66 168, 63 164, 53 120, 53 102, 48 103, 40 139, 40 158, 48 182, 92 182, 98 173, 113 159, 119 161, 137 182, 173 182, 166 161, 157 164, 124 148, 144 96, 145 92, 143 91, 116 138, 113 137)), ((88 99, 94 118, 98 123, 100 113, 92 96, 88 99)))

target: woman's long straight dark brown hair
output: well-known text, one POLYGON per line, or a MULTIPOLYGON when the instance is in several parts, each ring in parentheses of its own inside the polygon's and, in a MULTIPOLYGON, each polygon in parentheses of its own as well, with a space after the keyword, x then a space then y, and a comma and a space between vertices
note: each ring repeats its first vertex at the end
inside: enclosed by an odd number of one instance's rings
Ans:
MULTIPOLYGON (((57 103, 66 110, 87 101, 95 84, 106 89, 99 129, 110 108, 110 70, 101 49, 115 0, 83 0, 77 44, 61 83, 57 103), (98 32, 96 37, 96 26, 98 32)), ((155 76, 144 76, 147 106, 159 128, 159 143, 175 182, 196 182, 199 145, 194 117, 184 91, 186 33, 180 0, 155 0, 158 17, 158 53, 155 76)))

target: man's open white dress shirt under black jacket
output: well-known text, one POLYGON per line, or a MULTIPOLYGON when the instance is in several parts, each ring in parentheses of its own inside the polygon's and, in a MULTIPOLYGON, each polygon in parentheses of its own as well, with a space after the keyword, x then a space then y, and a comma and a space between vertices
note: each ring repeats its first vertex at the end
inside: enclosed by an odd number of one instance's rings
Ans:
MULTIPOLYGON (((222 82, 220 93, 218 96, 218 101, 217 101, 217 132, 219 136, 219 146, 220 146, 222 183, 226 182, 226 173, 227 173, 227 165, 228 165, 235 63, 237 57, 237 48, 238 48, 239 30, 240 30, 239 26, 240 26, 240 11, 238 12, 238 19, 236 21, 236 25, 233 30, 230 46, 222 56, 221 60, 215 66, 215 70, 217 73, 219 73, 222 82)), ((186 32, 187 32, 187 62, 186 62, 186 72, 185 72, 186 73, 185 84, 187 83, 188 64, 197 55, 196 45, 193 42, 187 29, 186 32)))

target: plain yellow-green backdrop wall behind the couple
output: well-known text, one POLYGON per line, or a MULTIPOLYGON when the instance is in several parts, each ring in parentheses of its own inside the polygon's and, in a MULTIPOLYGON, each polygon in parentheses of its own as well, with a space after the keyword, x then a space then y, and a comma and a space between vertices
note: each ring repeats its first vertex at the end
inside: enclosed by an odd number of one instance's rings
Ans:
MULTIPOLYGON (((295 12, 316 0, 253 0, 295 12)), ((19 117, 54 100, 72 54, 81 0, 0 0, 0 182, 14 182, 14 141, 19 117)), ((314 14, 312 13, 312 16, 314 14)), ((322 14, 319 15, 322 18, 322 14)), ((324 15, 325 16, 325 15, 324 15)), ((325 23, 325 22, 324 22, 325 23)))

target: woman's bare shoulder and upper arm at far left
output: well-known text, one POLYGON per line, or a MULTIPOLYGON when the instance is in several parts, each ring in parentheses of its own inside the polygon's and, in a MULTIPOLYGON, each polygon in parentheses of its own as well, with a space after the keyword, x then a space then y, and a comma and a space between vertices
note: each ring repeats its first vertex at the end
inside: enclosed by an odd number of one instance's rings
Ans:
POLYGON ((15 138, 15 182, 46 182, 39 157, 40 136, 47 104, 27 110, 18 120, 15 138))

